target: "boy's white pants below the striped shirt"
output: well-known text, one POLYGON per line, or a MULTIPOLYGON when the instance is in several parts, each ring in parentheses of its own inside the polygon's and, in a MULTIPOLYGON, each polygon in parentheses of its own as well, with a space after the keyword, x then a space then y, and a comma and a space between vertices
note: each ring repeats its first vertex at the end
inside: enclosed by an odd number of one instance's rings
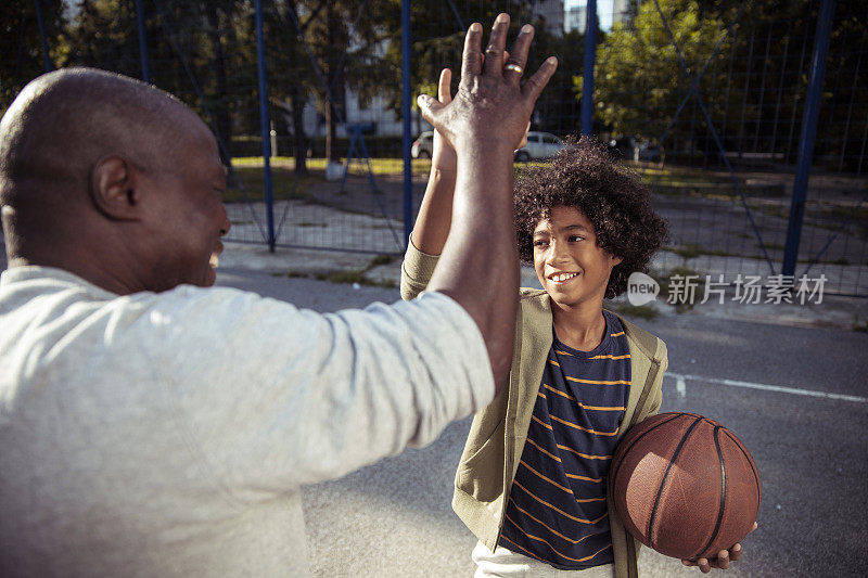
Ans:
POLYGON ((473 549, 473 562, 476 563, 476 573, 473 578, 560 578, 572 576, 575 578, 614 578, 615 565, 605 564, 585 570, 559 570, 536 558, 516 554, 498 545, 494 552, 482 542, 476 542, 473 549))

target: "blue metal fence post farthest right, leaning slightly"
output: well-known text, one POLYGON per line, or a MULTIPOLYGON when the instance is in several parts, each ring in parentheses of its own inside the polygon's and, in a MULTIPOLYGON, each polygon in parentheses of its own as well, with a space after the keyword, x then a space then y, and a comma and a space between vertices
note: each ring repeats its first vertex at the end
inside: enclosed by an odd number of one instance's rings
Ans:
POLYGON ((814 140, 817 136, 817 117, 822 98, 822 80, 826 75, 826 59, 829 52, 829 36, 832 30, 835 0, 822 0, 814 39, 814 56, 810 63, 805 112, 802 118, 802 137, 799 142, 799 164, 793 182, 793 197, 790 205, 790 222, 787 227, 787 244, 783 249, 784 275, 795 274, 799 257, 799 241, 802 236, 802 221, 805 217, 805 196, 810 177, 810 160, 814 156, 814 140))

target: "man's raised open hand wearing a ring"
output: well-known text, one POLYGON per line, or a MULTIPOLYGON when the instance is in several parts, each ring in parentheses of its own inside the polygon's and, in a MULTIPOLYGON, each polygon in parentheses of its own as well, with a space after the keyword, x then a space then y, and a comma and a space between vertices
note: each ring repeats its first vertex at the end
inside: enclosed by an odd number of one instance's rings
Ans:
POLYGON ((444 104, 426 94, 419 97, 425 120, 459 152, 473 154, 481 146, 511 152, 526 130, 537 97, 554 73, 557 60, 550 57, 521 87, 534 28, 522 27, 514 53, 505 65, 508 30, 509 15, 500 14, 483 57, 482 25, 474 23, 464 39, 461 84, 455 99, 444 104))

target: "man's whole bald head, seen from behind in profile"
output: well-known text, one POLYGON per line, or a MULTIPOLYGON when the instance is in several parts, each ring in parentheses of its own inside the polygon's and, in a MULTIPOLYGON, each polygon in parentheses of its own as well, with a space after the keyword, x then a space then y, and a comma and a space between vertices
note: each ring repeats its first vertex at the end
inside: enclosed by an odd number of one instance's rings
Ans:
POLYGON ((65 269, 118 294, 210 285, 230 227, 225 187, 207 126, 131 78, 50 73, 0 120, 10 267, 65 269))

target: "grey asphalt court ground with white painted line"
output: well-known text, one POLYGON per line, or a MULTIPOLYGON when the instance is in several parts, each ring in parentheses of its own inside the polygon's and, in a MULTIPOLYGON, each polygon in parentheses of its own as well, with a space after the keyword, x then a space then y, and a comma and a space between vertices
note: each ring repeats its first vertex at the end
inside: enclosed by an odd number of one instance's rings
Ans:
MULTIPOLYGON (((394 301, 396 290, 222 271, 229 284, 320 311, 394 301)), ((760 529, 726 576, 850 576, 868 552, 868 334, 672 316, 635 320, 669 351, 661 411, 729 427, 763 483, 760 529), (679 382, 682 385, 679 386, 679 382)), ((305 488, 315 576, 471 576, 475 539, 451 512, 470 419, 431 446, 305 488)), ((643 577, 699 576, 643 549, 643 577)))

